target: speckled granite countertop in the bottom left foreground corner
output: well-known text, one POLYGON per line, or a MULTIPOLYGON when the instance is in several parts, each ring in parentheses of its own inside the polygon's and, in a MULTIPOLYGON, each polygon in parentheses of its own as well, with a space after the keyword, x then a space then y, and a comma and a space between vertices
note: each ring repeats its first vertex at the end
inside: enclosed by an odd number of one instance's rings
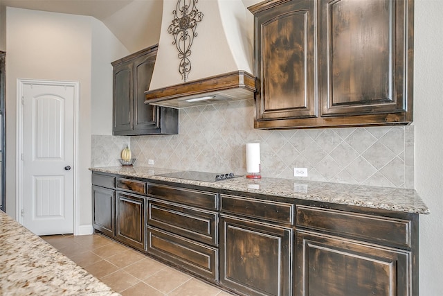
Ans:
POLYGON ((0 211, 0 295, 120 295, 0 211))

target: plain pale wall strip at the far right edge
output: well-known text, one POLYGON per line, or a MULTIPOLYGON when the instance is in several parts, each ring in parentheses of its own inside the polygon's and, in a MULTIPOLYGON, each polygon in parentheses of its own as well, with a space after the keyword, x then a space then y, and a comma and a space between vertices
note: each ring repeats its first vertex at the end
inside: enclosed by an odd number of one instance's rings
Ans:
POLYGON ((443 295, 443 1, 415 0, 415 188, 420 216, 420 295, 443 295))

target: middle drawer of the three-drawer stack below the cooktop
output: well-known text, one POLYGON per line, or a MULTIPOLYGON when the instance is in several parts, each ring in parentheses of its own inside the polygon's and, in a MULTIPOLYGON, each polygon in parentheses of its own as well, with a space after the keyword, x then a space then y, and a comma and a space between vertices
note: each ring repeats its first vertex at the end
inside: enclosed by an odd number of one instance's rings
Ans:
POLYGON ((175 204, 150 200, 147 224, 201 243, 217 245, 217 221, 215 212, 181 207, 175 204))

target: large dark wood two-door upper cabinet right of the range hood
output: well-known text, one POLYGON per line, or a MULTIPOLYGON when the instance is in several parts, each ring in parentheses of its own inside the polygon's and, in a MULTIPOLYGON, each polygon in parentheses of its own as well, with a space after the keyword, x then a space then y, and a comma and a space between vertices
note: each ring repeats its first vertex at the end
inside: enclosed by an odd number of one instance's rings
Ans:
POLYGON ((255 128, 413 121, 413 0, 271 0, 255 17, 255 128))

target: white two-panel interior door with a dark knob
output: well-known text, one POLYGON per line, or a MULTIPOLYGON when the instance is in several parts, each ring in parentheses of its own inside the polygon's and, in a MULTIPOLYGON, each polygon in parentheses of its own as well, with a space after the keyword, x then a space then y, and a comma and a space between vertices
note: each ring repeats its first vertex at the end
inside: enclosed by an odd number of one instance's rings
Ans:
POLYGON ((37 235, 73 233, 76 91, 23 85, 21 220, 37 235))

